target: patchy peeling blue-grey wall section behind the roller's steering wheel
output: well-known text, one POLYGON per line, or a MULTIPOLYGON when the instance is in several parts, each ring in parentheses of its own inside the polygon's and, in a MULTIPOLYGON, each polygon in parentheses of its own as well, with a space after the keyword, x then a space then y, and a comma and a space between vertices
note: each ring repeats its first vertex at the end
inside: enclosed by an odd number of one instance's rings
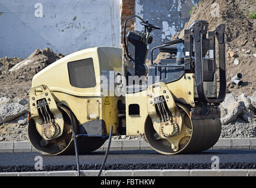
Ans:
MULTIPOLYGON (((148 59, 151 48, 162 45, 171 39, 175 33, 184 28, 185 22, 189 20, 189 11, 192 6, 197 5, 200 0, 135 0, 135 14, 148 20, 150 24, 157 25, 162 30, 155 30, 151 33, 153 42, 150 45, 148 59)), ((136 20, 136 29, 141 31, 143 26, 136 20)), ((156 58, 158 50, 154 53, 156 58)))

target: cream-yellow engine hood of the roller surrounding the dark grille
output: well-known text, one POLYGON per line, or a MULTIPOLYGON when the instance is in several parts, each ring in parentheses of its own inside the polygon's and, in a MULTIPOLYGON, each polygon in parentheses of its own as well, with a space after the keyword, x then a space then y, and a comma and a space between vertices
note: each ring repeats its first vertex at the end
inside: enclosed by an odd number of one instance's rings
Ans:
POLYGON ((101 70, 122 70, 122 50, 120 48, 97 47, 71 53, 47 66, 32 79, 32 88, 46 85, 52 91, 69 93, 77 96, 101 95, 101 70), (68 62, 92 58, 97 85, 94 88, 75 88, 69 83, 68 62))

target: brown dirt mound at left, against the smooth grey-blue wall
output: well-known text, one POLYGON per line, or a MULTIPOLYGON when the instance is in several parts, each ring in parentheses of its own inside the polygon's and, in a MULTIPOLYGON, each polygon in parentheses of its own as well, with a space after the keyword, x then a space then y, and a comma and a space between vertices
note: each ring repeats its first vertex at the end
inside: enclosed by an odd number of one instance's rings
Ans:
POLYGON ((64 57, 52 49, 36 49, 26 59, 0 58, 0 97, 21 98, 28 95, 33 76, 64 57))

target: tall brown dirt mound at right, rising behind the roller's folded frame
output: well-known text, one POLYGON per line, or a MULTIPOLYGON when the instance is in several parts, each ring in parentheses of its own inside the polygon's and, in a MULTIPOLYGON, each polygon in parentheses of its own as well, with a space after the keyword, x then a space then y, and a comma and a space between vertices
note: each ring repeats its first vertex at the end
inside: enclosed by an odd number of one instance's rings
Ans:
MULTIPOLYGON (((227 82, 228 92, 234 93, 235 96, 245 93, 252 95, 256 84, 256 20, 248 18, 252 11, 255 11, 256 2, 253 0, 216 0, 204 1, 195 6, 192 15, 184 28, 187 29, 194 21, 205 20, 209 22, 208 31, 214 31, 220 24, 225 24, 225 41, 226 41, 226 63, 227 63, 227 82), (220 8, 220 16, 212 16, 211 5, 217 3, 220 8), (235 61, 236 59, 236 61, 235 61), (235 63, 238 65, 236 65, 235 63), (234 86, 230 79, 237 73, 242 73, 244 82, 241 87, 234 86)), ((172 37, 183 38, 184 29, 172 37)), ((155 62, 164 59, 167 54, 159 53, 155 62)), ((218 61, 218 55, 216 55, 218 61)))

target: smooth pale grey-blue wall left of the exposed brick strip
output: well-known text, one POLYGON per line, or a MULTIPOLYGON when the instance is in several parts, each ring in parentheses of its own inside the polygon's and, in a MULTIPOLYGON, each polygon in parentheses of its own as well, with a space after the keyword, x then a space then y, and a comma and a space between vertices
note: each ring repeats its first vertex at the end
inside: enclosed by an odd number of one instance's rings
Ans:
POLYGON ((1 0, 0 57, 26 58, 45 47, 64 55, 120 47, 120 6, 121 0, 1 0))

